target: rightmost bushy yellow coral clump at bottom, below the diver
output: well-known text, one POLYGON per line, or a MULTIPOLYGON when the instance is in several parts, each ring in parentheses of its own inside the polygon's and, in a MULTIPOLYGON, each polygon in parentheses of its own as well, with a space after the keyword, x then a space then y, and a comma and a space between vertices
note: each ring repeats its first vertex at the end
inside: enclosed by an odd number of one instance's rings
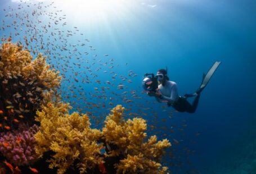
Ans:
POLYGON ((106 143, 114 144, 118 148, 110 149, 107 157, 123 154, 126 158, 116 164, 118 173, 165 173, 167 167, 161 168, 159 161, 164 149, 170 146, 167 139, 156 142, 156 136, 151 136, 143 143, 147 134, 146 121, 142 118, 124 121, 124 108, 120 105, 111 110, 105 121, 102 134, 106 143), (154 160, 154 161, 153 161, 154 160))

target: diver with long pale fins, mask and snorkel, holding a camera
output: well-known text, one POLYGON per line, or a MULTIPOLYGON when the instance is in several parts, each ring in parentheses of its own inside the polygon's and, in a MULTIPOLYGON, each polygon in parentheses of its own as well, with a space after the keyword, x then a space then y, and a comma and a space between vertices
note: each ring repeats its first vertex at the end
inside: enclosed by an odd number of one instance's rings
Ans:
POLYGON ((177 84, 170 81, 167 75, 167 68, 160 69, 154 74, 145 74, 142 81, 142 87, 150 97, 155 97, 158 102, 166 102, 178 112, 194 113, 199 102, 201 91, 208 84, 210 78, 221 62, 215 62, 207 74, 203 74, 203 80, 200 87, 193 94, 185 94, 183 97, 178 95, 177 84), (195 97, 192 104, 187 101, 188 97, 195 97))

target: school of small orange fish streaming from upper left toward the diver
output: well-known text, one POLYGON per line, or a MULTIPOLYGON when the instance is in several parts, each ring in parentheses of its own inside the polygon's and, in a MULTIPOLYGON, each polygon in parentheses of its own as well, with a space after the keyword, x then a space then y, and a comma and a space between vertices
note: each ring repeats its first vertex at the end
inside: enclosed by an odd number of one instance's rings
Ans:
MULTIPOLYGON (((164 104, 159 109, 151 107, 156 101, 146 96, 140 84, 133 83, 137 78, 141 80, 143 75, 138 76, 134 70, 130 70, 128 63, 115 63, 115 58, 110 54, 98 54, 86 34, 80 32, 77 26, 68 26, 68 16, 64 11, 57 10, 54 2, 20 1, 17 6, 2 10, 5 13, 0 25, 2 41, 12 38, 12 42, 25 45, 33 56, 38 53, 46 56, 47 63, 60 71, 62 76, 59 90, 62 99, 76 111, 87 113, 93 125, 101 125, 109 110, 116 104, 122 104, 128 118, 143 117, 148 121, 150 134, 172 139, 173 144, 177 145, 183 141, 178 137, 173 138, 172 133, 174 130, 183 132, 186 120, 179 126, 170 126, 168 119, 173 117, 173 111, 164 104), (159 115, 165 117, 159 118, 159 115)), ((28 96, 32 95, 30 91, 27 93, 28 96)), ((14 97, 20 98, 21 95, 17 93, 14 97)), ((8 109, 11 111, 11 103, 8 109)), ((3 115, 1 111, 0 115, 3 115)), ((188 148, 183 148, 183 151, 194 153, 188 148)), ((31 170, 37 173, 35 169, 31 170)))

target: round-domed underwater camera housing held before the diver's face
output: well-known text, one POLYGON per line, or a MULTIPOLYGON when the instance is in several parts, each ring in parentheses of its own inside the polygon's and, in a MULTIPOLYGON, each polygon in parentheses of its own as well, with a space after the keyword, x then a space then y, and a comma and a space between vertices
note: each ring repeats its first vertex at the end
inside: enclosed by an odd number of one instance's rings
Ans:
POLYGON ((155 92, 158 89, 158 79, 154 74, 146 73, 142 80, 142 88, 146 91, 155 92))

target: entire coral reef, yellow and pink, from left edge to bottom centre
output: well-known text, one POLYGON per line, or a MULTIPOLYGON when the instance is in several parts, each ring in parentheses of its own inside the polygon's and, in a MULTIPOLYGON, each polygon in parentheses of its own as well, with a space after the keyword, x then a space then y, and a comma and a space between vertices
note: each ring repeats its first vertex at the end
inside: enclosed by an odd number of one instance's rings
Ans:
POLYGON ((42 54, 33 59, 20 45, 2 44, 0 158, 10 162, 9 170, 12 164, 26 167, 49 157, 49 168, 57 173, 72 168, 80 173, 167 173, 160 159, 170 143, 147 138, 145 120, 125 121, 124 107, 118 105, 102 131, 91 129, 86 114, 69 114, 71 107, 57 93, 60 81, 59 72, 50 69, 42 54))

